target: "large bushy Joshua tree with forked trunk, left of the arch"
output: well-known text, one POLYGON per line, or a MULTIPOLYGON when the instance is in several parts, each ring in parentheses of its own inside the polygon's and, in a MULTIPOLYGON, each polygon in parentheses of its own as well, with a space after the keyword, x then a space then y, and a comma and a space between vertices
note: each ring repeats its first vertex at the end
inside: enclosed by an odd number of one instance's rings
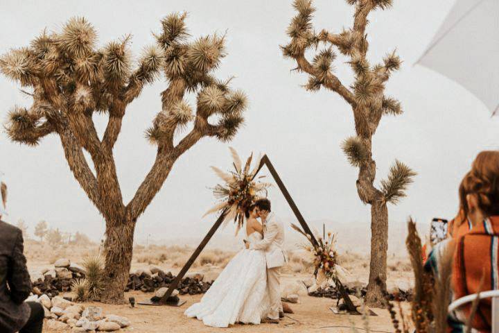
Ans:
POLYGON ((162 19, 155 45, 144 49, 136 65, 132 65, 129 35, 97 49, 94 27, 80 17, 69 19, 62 31, 43 32, 29 46, 0 59, 2 73, 21 87, 32 88, 26 93, 33 97, 30 108, 10 111, 8 136, 35 146, 46 135, 58 135, 69 169, 106 221, 104 302, 123 302, 135 223, 175 161, 202 137, 231 140, 243 123, 245 94, 232 90, 230 80, 218 80, 212 74, 225 56, 225 37, 207 35, 191 41, 185 18, 175 13, 162 19), (162 109, 146 131, 157 146, 156 159, 125 204, 113 147, 128 105, 161 73, 167 80, 162 109), (197 97, 195 106, 184 99, 187 93, 197 97), (96 112, 109 117, 103 135, 94 126, 96 112), (189 125, 189 133, 177 137, 189 125))

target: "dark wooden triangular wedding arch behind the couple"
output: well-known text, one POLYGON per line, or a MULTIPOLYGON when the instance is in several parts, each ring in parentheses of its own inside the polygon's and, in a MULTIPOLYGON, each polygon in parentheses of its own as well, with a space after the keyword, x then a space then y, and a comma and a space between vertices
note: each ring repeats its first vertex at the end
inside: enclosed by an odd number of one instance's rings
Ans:
MULTIPOLYGON (((279 174, 277 173, 276 169, 274 168, 274 165, 272 165, 272 162, 270 162, 267 155, 263 155, 263 157, 260 161, 259 168, 257 169, 254 177, 256 177, 256 175, 261 171, 263 166, 266 166, 268 168, 268 170, 270 171, 272 178, 274 178, 274 180, 277 183, 277 186, 279 187, 279 189, 281 190, 284 198, 286 198, 286 201, 288 201, 288 205, 290 205, 292 212, 295 214, 296 218, 298 219, 298 222, 300 223, 301 228, 303 228, 303 230, 304 230, 304 232, 306 232, 306 234, 310 235, 313 244, 317 245, 318 244, 317 239, 315 239, 314 234, 312 233, 312 230, 310 230, 310 228, 308 227, 308 224, 306 223, 303 215, 301 215, 301 212, 298 210, 298 207, 295 204, 295 201, 291 198, 291 195, 289 194, 288 189, 286 189, 286 186, 284 186, 284 183, 282 182, 281 178, 279 177, 279 174)), ((161 300, 159 300, 159 303, 157 303, 156 305, 168 305, 168 298, 171 296, 173 291, 175 289, 177 289, 178 284, 180 283, 182 278, 184 278, 184 275, 187 273, 187 271, 189 271, 189 268, 191 268, 192 264, 195 262, 195 259, 198 258, 198 256, 200 255, 200 253, 202 252, 204 247, 207 246, 209 240, 211 239, 211 237, 213 237, 213 234, 215 234, 216 230, 218 230, 218 228, 222 224, 222 221, 224 221, 226 214, 227 214, 227 209, 222 211, 222 213, 220 214, 220 216, 218 217, 216 222, 213 224, 213 226, 211 227, 211 229, 209 230, 207 235, 204 236, 204 239, 201 241, 198 248, 195 249, 194 253, 191 255, 189 260, 187 260, 184 267, 182 267, 180 272, 177 274, 177 277, 175 278, 175 280, 173 280, 173 282, 170 284, 170 286, 168 287, 168 291, 166 291, 164 296, 161 298, 161 300)), ((345 291, 343 284, 340 282, 340 280, 337 279, 335 281, 335 284, 338 288, 338 291, 340 291, 340 293, 342 295, 342 298, 344 300, 345 305, 347 306, 347 309, 349 311, 356 312, 356 307, 353 305, 353 302, 349 298, 348 293, 345 291)), ((147 302, 147 303, 143 303, 143 304, 150 305, 151 303, 147 302)))

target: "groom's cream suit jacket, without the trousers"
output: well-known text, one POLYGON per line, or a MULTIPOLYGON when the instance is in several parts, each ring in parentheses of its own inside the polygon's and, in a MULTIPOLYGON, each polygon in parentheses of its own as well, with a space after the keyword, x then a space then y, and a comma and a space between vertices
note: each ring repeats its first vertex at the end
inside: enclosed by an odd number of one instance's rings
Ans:
POLYGON ((265 222, 263 239, 249 245, 253 250, 264 250, 267 268, 284 266, 288 262, 286 252, 283 250, 284 228, 282 222, 274 213, 270 213, 265 222))

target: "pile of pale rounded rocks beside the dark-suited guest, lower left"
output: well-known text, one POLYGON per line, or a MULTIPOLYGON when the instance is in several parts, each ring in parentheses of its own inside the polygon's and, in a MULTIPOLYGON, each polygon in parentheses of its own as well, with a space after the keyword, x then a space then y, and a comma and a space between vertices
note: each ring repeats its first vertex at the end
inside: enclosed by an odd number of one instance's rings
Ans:
POLYGON ((103 315, 100 307, 82 307, 65 300, 60 296, 50 299, 49 296, 30 296, 30 301, 39 302, 45 311, 47 327, 51 330, 67 330, 72 332, 112 332, 130 326, 127 318, 115 315, 103 315))

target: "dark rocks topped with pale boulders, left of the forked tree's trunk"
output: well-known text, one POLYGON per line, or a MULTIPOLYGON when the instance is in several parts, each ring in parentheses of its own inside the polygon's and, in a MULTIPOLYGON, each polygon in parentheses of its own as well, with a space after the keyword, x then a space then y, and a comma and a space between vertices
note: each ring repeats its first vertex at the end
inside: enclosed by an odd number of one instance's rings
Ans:
POLYGON ((69 259, 58 259, 54 263, 54 268, 46 268, 40 273, 30 275, 33 287, 53 298, 61 292, 69 291, 74 279, 85 278, 85 270, 76 264, 71 264, 69 259))

